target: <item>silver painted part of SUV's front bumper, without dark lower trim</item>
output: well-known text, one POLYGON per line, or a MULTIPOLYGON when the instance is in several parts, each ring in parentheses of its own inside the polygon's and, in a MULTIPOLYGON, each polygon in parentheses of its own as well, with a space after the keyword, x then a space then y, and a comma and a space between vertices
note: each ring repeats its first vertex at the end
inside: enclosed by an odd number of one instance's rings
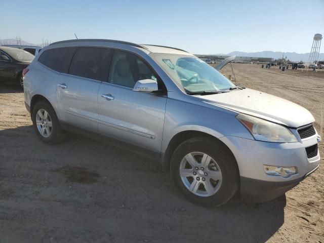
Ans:
POLYGON ((270 143, 226 136, 220 138, 232 151, 241 177, 261 181, 286 182, 301 178, 319 165, 319 151, 307 158, 306 147, 317 144, 318 135, 296 143, 270 143), (296 166, 298 174, 289 178, 265 174, 263 165, 296 166))

